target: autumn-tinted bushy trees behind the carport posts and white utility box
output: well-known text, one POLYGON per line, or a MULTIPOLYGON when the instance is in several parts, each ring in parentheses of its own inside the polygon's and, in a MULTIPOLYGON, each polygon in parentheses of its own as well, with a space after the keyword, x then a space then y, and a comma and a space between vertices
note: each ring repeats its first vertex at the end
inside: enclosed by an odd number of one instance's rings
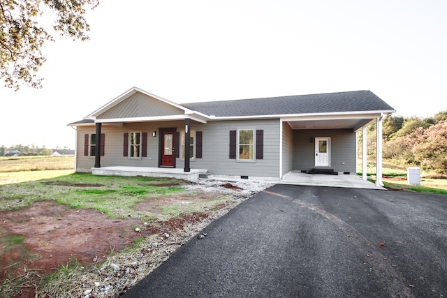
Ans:
MULTIPOLYGON (((447 174, 447 111, 427 118, 386 117, 382 135, 384 159, 397 165, 418 166, 426 172, 447 174)), ((368 126, 367 143, 368 156, 375 156, 376 124, 368 126)))

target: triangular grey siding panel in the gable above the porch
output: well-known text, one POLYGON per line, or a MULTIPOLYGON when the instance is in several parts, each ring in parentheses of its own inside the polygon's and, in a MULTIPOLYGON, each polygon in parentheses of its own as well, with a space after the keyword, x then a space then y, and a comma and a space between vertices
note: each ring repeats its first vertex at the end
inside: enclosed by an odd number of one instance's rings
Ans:
POLYGON ((156 117, 178 114, 184 114, 184 110, 145 94, 136 93, 98 115, 97 119, 156 117))

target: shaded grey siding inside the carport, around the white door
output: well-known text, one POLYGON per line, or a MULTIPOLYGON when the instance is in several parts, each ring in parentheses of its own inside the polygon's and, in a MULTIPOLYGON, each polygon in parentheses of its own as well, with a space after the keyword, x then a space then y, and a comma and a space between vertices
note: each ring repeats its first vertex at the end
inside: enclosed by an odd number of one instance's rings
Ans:
POLYGON ((293 131, 293 170, 315 167, 311 138, 330 137, 330 167, 336 172, 356 172, 356 133, 351 129, 293 131))

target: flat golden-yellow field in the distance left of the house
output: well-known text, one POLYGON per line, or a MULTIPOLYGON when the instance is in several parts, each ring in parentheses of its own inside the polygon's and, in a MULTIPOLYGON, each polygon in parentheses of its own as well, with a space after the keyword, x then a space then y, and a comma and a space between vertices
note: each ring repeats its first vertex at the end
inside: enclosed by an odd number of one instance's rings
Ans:
POLYGON ((0 172, 73 170, 75 156, 0 157, 0 172))

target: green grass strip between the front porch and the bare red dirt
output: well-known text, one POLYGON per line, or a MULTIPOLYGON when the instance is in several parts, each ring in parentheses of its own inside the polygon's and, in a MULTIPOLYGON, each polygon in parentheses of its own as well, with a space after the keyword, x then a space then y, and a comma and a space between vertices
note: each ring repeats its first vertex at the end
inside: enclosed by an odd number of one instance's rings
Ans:
MULTIPOLYGON (((85 173, 0 186, 0 211, 22 209, 33 202, 54 201, 73 209, 96 209, 108 217, 144 218, 133 209, 147 198, 184 195, 184 181, 152 177, 107 177, 85 173)), ((198 209, 198 207, 197 207, 198 209)))

